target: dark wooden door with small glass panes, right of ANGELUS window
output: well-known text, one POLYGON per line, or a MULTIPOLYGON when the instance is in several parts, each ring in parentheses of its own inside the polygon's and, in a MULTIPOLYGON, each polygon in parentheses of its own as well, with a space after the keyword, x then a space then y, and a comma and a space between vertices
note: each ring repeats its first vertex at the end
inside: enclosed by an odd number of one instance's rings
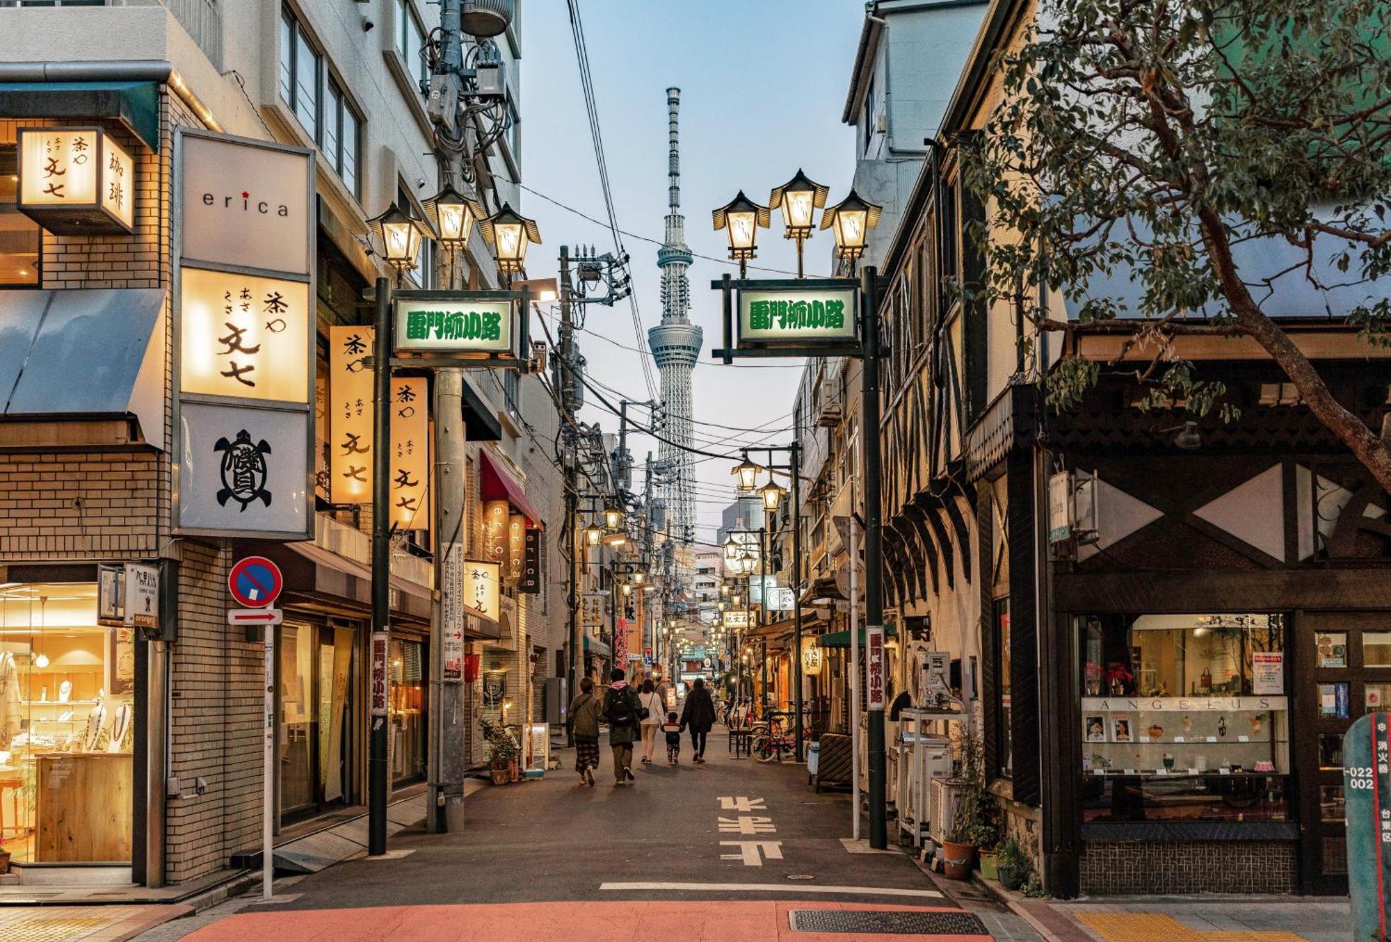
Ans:
POLYGON ((1295 770, 1301 873, 1310 893, 1346 895, 1342 735, 1391 697, 1391 613, 1309 613, 1296 627, 1295 770))

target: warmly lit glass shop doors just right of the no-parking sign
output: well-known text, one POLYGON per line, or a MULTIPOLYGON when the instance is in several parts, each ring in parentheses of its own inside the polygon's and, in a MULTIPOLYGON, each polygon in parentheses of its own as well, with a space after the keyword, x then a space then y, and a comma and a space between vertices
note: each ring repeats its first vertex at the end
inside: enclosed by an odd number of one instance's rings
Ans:
POLYGON ((284 823, 351 802, 353 631, 287 621, 278 650, 284 823))

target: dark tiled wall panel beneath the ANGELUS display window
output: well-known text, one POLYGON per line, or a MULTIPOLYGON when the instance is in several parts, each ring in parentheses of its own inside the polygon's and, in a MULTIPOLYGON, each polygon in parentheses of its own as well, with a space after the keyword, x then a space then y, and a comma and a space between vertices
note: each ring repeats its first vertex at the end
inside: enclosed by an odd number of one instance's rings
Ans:
POLYGON ((1294 893, 1292 841, 1088 841, 1081 889, 1107 893, 1294 893))

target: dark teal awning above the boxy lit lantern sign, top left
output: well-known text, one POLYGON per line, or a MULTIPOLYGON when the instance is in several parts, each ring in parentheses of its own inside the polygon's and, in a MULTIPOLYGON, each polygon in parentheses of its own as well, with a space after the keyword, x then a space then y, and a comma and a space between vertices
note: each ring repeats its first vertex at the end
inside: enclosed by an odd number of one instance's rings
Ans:
POLYGON ((157 82, 0 82, 0 115, 83 124, 115 118, 150 150, 160 149, 157 82))

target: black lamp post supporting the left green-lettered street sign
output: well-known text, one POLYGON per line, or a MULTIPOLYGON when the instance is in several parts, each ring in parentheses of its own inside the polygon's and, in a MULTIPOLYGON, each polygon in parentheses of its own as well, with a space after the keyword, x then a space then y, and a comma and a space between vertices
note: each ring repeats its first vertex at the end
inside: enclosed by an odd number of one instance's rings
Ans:
MULTIPOLYGON (((377 279, 377 311, 373 338, 373 474, 371 474, 371 629, 374 716, 367 735, 367 853, 387 853, 387 717, 376 714, 378 696, 383 707, 389 702, 389 675, 378 678, 378 638, 389 643, 391 631, 391 279, 377 279), (381 691, 376 689, 381 684, 381 691)), ((383 652, 384 654, 385 652, 383 652)), ((385 661, 385 657, 383 657, 385 661)))

